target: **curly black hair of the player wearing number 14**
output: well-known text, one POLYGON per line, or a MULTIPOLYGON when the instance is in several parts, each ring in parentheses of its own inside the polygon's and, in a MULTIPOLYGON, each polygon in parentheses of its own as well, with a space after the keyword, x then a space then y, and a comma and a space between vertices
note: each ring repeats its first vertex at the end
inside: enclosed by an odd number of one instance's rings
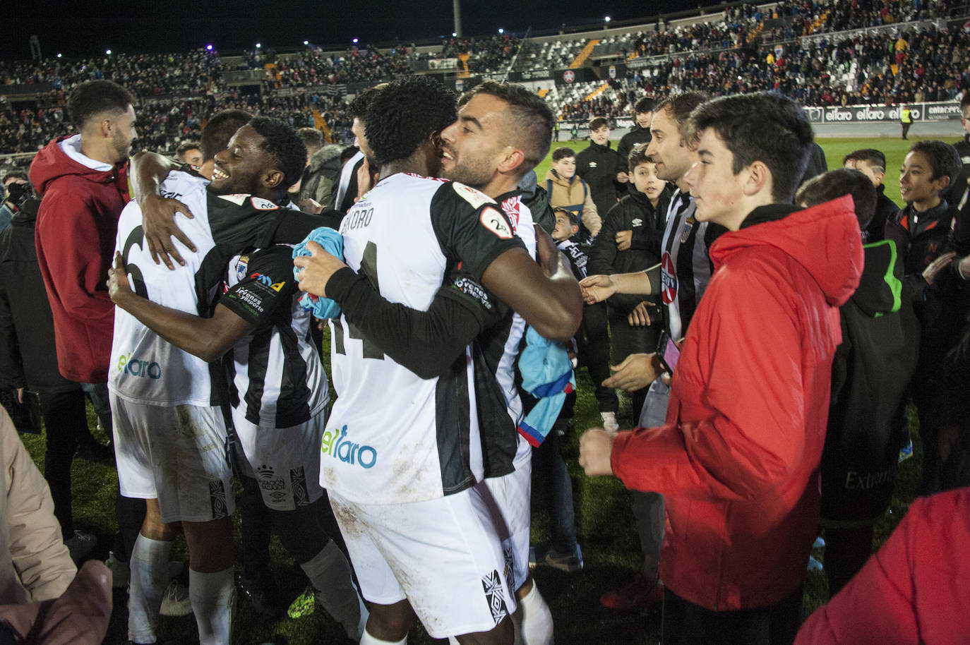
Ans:
POLYGON ((455 94, 438 81, 413 77, 387 83, 365 115, 367 140, 378 168, 411 156, 456 118, 455 94))

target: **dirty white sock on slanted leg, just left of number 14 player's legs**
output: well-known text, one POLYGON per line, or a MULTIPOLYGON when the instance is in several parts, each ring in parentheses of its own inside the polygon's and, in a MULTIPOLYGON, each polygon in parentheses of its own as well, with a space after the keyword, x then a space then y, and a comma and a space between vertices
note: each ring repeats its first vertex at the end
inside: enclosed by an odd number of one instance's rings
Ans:
POLYGON ((333 540, 300 565, 316 592, 316 598, 334 617, 347 636, 358 640, 367 625, 368 610, 350 576, 350 564, 333 540))

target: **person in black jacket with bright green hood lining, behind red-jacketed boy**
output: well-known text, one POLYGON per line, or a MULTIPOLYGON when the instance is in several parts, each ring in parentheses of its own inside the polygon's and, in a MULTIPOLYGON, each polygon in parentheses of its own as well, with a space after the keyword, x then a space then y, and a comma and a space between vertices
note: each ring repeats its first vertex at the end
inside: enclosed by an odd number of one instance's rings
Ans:
MULTIPOLYGON (((877 202, 872 177, 860 171, 815 177, 798 190, 795 204, 808 208, 847 194, 864 232, 877 202)), ((901 293, 903 267, 895 242, 871 242, 863 249, 859 286, 839 307, 842 343, 832 362, 822 453, 820 524, 830 596, 865 564, 873 525, 889 508, 899 449, 909 438, 901 405, 919 351, 920 324, 911 298, 901 293)))

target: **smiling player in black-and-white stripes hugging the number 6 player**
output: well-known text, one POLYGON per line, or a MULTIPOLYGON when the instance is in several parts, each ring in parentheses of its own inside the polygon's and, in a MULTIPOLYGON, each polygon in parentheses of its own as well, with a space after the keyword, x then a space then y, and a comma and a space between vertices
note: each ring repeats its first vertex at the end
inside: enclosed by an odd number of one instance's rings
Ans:
MULTIPOLYGON (((258 177, 265 171, 239 161, 245 152, 251 153, 251 132, 251 126, 241 128, 228 149, 215 155, 217 172, 210 191, 259 190, 258 177)), ((285 144, 275 154, 284 156, 283 163, 295 164, 297 140, 282 134, 271 129, 268 135, 285 144)), ((316 224, 315 218, 306 219, 300 239, 316 224)), ((307 573, 320 603, 348 636, 359 638, 367 611, 350 583, 346 559, 321 523, 331 514, 316 476, 329 393, 309 336, 310 315, 297 304, 291 247, 278 244, 235 256, 227 274, 220 276, 227 292, 205 317, 139 298, 127 288, 120 270, 116 260, 113 298, 118 306, 208 363, 226 354, 233 426, 244 458, 238 462, 242 477, 262 492, 263 511, 268 511, 283 545, 307 573)), ((245 586, 248 590, 265 582, 250 580, 245 586)))

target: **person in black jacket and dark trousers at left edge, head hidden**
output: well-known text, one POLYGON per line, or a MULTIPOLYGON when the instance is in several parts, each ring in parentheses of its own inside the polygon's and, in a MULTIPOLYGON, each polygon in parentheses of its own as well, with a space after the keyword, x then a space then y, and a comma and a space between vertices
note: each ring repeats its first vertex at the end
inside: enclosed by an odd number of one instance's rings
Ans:
POLYGON ((39 205, 37 199, 20 202, 10 226, 0 232, 0 385, 15 389, 21 403, 27 388, 40 398, 48 430, 44 476, 64 543, 78 561, 96 540, 74 530, 71 463, 79 440, 91 439, 81 385, 57 371, 53 320, 34 249, 39 205))

